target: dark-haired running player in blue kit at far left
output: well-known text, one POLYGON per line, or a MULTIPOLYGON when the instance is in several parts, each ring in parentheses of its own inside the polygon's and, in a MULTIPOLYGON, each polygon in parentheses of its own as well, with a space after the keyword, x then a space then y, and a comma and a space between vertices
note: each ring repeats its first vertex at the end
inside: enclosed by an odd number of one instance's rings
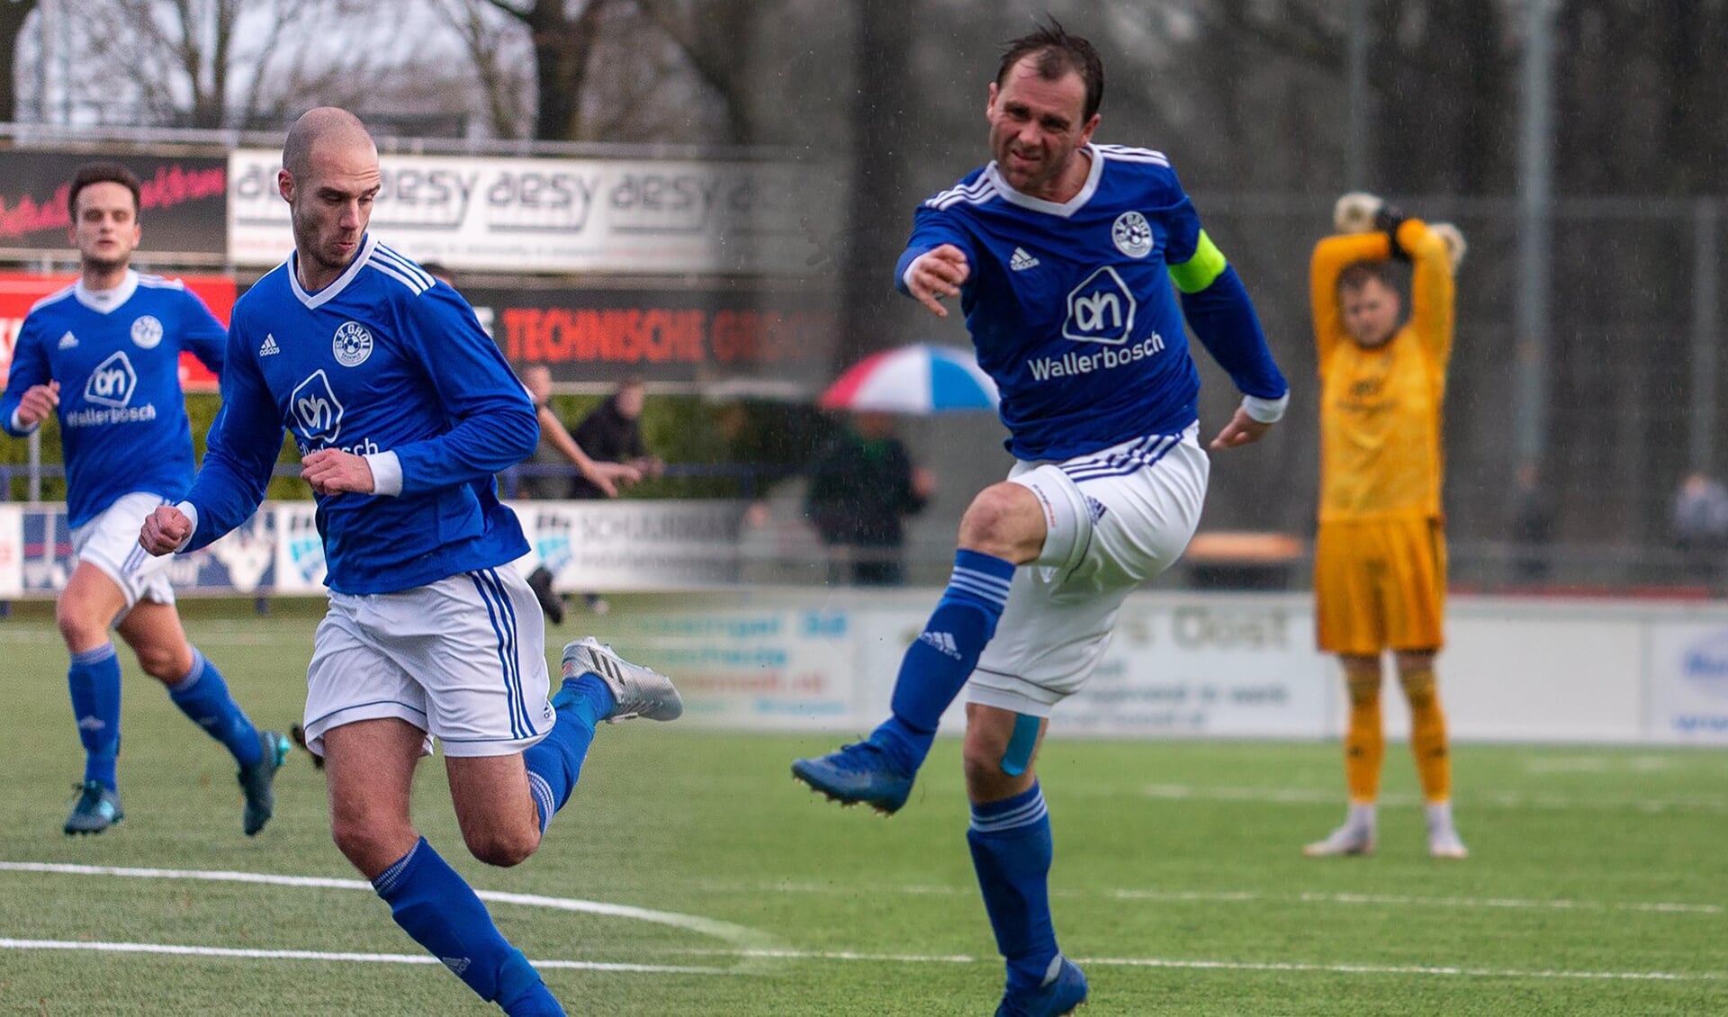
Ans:
POLYGON ((73 174, 67 211, 79 278, 29 309, 0 397, 0 425, 16 437, 57 414, 66 458, 78 565, 54 615, 73 656, 66 684, 85 779, 64 829, 100 834, 126 815, 116 774, 121 682, 112 627, 175 706, 240 765, 242 829, 251 836, 275 808, 275 774, 289 742, 252 727, 216 665, 187 641, 168 559, 137 546, 138 518, 192 483, 180 351, 221 373, 226 330, 180 280, 133 271, 138 193, 138 178, 114 162, 90 162, 73 174))

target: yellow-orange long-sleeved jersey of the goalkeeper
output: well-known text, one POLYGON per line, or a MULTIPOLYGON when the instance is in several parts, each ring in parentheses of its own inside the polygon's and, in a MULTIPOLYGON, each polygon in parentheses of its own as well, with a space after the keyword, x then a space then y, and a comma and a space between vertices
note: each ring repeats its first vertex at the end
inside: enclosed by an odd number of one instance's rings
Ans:
POLYGON ((1384 233, 1327 237, 1308 273, 1320 364, 1320 521, 1441 518, 1441 409, 1452 357, 1453 280, 1446 247, 1419 219, 1410 252, 1410 319, 1377 349, 1344 332, 1337 275, 1391 256, 1384 233))

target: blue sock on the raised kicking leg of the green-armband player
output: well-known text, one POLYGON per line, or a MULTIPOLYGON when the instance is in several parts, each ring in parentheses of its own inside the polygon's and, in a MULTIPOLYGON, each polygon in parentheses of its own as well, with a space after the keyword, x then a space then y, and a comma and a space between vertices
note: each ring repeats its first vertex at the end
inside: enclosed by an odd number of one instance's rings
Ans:
POLYGON ((954 553, 954 573, 924 632, 905 651, 893 684, 893 717, 871 734, 902 774, 930 755, 942 713, 978 666, 1007 604, 1014 563, 976 551, 954 553))

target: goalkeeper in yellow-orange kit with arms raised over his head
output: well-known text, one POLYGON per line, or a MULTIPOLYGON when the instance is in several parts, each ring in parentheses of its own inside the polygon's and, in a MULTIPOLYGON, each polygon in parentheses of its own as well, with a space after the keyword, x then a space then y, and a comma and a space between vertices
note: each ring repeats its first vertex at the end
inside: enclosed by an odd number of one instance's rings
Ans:
POLYGON ((1308 276, 1320 366, 1313 589, 1320 649, 1337 654, 1350 692, 1350 815, 1305 853, 1374 851, 1386 755, 1381 658, 1391 649, 1410 703, 1429 855, 1464 858, 1452 822, 1446 717, 1434 689, 1446 603, 1441 409, 1464 237, 1365 193, 1339 199, 1334 224, 1339 233, 1315 247, 1308 276), (1412 269, 1403 325, 1393 261, 1412 269))

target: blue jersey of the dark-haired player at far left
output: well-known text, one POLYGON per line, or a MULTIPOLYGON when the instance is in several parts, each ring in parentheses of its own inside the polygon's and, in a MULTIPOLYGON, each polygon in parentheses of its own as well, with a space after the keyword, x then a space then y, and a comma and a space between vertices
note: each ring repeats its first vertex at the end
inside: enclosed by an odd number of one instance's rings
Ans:
POLYGON ((0 397, 14 437, 33 385, 60 383, 60 449, 67 523, 81 527, 124 494, 173 499, 192 485, 192 425, 180 388, 180 352, 218 375, 228 332, 180 280, 128 271, 112 290, 76 283, 24 316, 0 397))

